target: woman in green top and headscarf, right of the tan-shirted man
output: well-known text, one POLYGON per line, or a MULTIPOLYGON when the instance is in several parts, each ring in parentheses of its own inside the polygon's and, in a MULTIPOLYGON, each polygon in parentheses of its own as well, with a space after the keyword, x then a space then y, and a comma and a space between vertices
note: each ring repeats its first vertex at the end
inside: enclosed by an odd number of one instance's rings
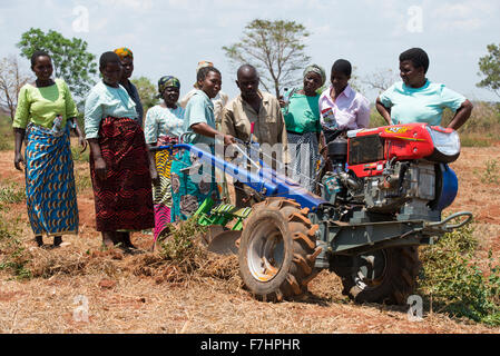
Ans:
POLYGON ((310 191, 314 191, 314 177, 320 158, 318 136, 321 132, 318 89, 326 80, 323 68, 311 65, 304 70, 304 87, 288 95, 283 105, 288 146, 294 165, 292 178, 310 191), (295 155, 293 151, 295 150, 295 155))

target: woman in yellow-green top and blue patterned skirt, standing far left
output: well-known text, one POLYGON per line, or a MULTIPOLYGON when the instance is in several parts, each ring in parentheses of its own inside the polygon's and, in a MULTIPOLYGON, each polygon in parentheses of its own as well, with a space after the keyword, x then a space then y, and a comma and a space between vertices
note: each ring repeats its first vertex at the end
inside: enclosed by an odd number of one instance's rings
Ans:
POLYGON ((53 236, 53 246, 62 243, 61 235, 78 234, 78 206, 75 189, 73 164, 69 140, 71 127, 82 151, 87 148, 76 116, 75 101, 61 79, 52 80, 50 56, 36 51, 31 69, 33 83, 19 92, 13 119, 16 136, 14 166, 26 166, 26 197, 28 215, 38 246, 42 235, 53 236), (26 160, 21 154, 26 140, 26 160))

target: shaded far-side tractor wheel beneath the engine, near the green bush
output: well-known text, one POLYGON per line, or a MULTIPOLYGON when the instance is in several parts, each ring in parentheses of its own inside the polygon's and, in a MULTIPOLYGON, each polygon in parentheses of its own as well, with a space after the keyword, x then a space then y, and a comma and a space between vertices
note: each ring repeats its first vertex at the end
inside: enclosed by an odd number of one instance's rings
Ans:
POLYGON ((341 276, 343 294, 356 303, 404 305, 416 288, 418 247, 386 248, 353 257, 351 274, 341 276))

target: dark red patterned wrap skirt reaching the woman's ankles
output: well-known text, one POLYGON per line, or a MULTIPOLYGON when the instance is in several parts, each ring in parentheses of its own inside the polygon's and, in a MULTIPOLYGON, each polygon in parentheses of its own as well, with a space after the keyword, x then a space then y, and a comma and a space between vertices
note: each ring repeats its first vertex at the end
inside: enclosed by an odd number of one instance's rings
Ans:
POLYGON ((98 139, 106 162, 100 179, 90 157, 98 231, 143 230, 155 226, 151 176, 144 131, 129 118, 101 120, 98 139))

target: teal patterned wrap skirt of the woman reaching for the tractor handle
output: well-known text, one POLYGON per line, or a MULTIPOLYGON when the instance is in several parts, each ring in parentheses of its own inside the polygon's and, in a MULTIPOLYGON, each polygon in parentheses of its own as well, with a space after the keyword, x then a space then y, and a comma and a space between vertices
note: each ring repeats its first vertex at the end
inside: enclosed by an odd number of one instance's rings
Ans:
POLYGON ((171 164, 171 221, 187 220, 207 197, 219 200, 215 168, 187 149, 179 150, 171 164))

